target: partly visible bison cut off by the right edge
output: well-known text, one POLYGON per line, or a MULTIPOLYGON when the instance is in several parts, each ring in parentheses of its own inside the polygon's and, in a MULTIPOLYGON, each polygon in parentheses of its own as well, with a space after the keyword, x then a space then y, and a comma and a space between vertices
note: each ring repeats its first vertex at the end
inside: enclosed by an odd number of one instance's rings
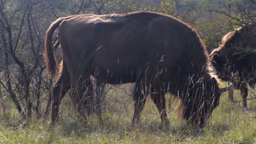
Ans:
MULTIPOLYGON (((256 27, 250 24, 226 34, 222 45, 211 52, 211 62, 220 79, 231 81, 240 89, 243 107, 247 107, 248 89, 256 82, 256 27)), ((232 92, 229 99, 234 100, 232 92)))

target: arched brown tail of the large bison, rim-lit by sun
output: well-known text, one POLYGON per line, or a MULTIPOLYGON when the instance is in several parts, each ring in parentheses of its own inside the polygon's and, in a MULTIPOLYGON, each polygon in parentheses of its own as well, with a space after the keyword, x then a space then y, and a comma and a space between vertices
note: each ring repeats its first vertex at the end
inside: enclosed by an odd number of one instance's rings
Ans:
POLYGON ((71 19, 74 16, 68 16, 68 17, 62 17, 60 19, 57 19, 53 23, 51 23, 50 27, 46 31, 45 34, 45 43, 44 43, 44 61, 46 63, 46 68, 49 71, 50 76, 53 78, 56 75, 56 65, 57 61, 54 55, 53 50, 53 33, 56 28, 59 27, 60 23, 63 20, 71 19))

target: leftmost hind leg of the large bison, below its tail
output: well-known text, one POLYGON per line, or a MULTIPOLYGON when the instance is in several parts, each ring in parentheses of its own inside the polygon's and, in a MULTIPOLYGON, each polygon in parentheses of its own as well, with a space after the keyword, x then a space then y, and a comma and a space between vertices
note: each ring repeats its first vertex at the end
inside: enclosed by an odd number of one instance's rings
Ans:
POLYGON ((59 107, 62 98, 70 88, 69 73, 65 63, 62 64, 62 71, 59 79, 54 84, 51 92, 52 107, 51 107, 51 123, 58 120, 59 107))

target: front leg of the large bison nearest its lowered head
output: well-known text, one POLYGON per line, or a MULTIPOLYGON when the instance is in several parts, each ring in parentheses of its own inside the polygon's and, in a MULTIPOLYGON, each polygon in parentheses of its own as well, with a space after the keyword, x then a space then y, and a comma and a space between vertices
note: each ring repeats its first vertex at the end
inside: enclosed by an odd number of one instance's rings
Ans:
POLYGON ((166 113, 166 100, 165 100, 165 92, 162 88, 153 88, 151 93, 151 98, 154 101, 156 107, 158 107, 158 111, 160 114, 162 126, 169 125, 170 122, 167 118, 166 113))

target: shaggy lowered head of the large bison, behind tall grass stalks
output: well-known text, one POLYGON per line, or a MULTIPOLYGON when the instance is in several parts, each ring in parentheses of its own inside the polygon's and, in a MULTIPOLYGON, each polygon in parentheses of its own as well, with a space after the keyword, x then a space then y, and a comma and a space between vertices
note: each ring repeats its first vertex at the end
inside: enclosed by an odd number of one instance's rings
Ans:
POLYGON ((182 117, 193 125, 203 127, 212 111, 219 105, 220 95, 229 87, 219 88, 219 82, 213 77, 211 80, 199 80, 185 92, 182 97, 182 117))

